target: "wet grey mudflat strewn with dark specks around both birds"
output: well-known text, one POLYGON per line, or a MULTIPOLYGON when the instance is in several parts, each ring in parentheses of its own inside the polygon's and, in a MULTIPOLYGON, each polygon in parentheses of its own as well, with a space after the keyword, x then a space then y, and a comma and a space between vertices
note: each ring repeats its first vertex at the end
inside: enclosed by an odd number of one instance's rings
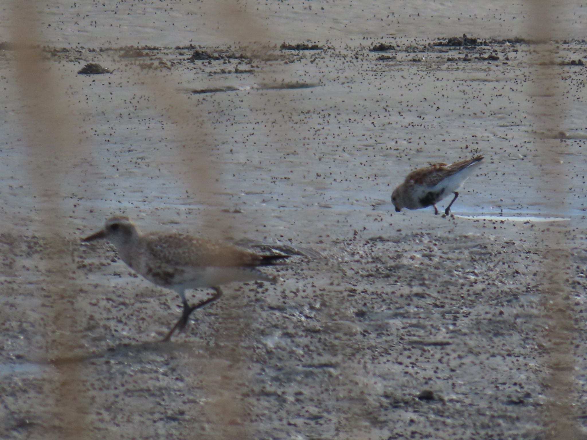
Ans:
POLYGON ((176 2, 52 5, 36 65, 2 35, 1 438, 550 438, 552 255, 587 435, 580 16, 545 62, 520 5, 339 3, 266 6, 257 43, 238 8, 222 32, 176 2), (410 171, 477 154, 450 216, 394 211, 410 171), (163 343, 177 294, 81 242, 114 214, 292 257, 163 343))

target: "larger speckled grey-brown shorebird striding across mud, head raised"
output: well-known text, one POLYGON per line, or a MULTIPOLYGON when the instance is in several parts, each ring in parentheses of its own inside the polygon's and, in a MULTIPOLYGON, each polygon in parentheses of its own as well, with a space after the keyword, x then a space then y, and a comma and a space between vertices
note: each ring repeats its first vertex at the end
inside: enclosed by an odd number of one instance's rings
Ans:
POLYGON ((259 255, 235 246, 212 242, 181 233, 141 233, 126 216, 109 218, 104 229, 83 239, 85 242, 107 239, 120 258, 151 283, 175 290, 181 297, 183 313, 163 339, 168 341, 175 330, 182 331, 191 312, 217 300, 218 287, 233 281, 268 281, 278 279, 266 275, 258 266, 275 265, 289 255, 259 255), (214 295, 195 306, 185 299, 185 290, 214 289, 214 295))

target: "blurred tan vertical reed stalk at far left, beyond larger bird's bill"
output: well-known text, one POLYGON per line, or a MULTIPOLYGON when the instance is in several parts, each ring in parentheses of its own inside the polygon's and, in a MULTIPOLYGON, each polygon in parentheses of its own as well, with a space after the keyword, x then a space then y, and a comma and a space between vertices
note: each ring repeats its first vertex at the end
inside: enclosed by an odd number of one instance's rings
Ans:
MULTIPOLYGON (((75 116, 66 110, 60 94, 60 85, 42 61, 39 46, 43 44, 41 27, 35 2, 12 2, 14 32, 12 40, 16 48, 16 78, 22 101, 23 144, 28 150, 28 174, 30 185, 37 194, 39 221, 31 225, 45 242, 43 246, 45 273, 44 292, 49 313, 50 338, 45 340, 45 353, 31 353, 32 357, 46 356, 47 363, 55 365, 55 405, 47 408, 50 420, 49 432, 55 438, 83 439, 87 437, 86 415, 88 405, 82 387, 83 363, 71 361, 79 350, 75 320, 76 292, 70 282, 73 259, 66 248, 63 221, 66 216, 61 205, 60 185, 65 178, 59 174, 59 158, 78 148, 73 138, 75 116), (68 114, 69 113, 69 114, 68 114), (39 172, 43 170, 43 172, 39 172)), ((41 416, 42 417, 42 416, 41 416)))

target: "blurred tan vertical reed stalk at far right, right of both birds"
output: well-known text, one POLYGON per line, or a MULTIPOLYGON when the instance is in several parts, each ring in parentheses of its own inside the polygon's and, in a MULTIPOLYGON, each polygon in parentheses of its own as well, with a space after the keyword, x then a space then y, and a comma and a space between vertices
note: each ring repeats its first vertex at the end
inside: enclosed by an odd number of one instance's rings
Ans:
MULTIPOLYGON (((535 197, 541 197, 541 188, 549 187, 561 195, 545 199, 541 203, 548 208, 548 214, 566 215, 565 188, 568 177, 562 166, 561 153, 565 144, 553 133, 564 130, 565 107, 561 99, 561 67, 555 62, 555 26, 561 26, 558 17, 565 4, 554 8, 545 0, 527 2, 532 17, 529 38, 534 40, 535 56, 534 87, 530 89, 534 100, 535 144, 541 160, 541 175, 535 197)), ((581 438, 577 427, 575 403, 579 400, 575 383, 574 343, 576 329, 573 326, 573 292, 569 292, 568 279, 571 276, 569 256, 568 224, 556 222, 546 228, 544 234, 544 263, 541 306, 545 312, 546 327, 541 341, 545 351, 546 367, 544 377, 545 405, 544 425, 547 439, 581 438)), ((538 416, 538 414, 537 414, 538 416)))

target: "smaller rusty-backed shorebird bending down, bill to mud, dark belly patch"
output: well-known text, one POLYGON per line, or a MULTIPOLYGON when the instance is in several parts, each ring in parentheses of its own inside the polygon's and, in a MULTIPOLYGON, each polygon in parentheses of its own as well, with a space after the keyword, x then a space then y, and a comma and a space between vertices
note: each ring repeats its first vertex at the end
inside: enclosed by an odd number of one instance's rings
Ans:
POLYGON ((456 191, 467 180, 471 173, 480 165, 483 156, 455 162, 454 164, 434 164, 410 172, 392 194, 392 203, 396 212, 402 208, 420 209, 434 207, 434 214, 438 214, 436 204, 447 195, 454 192, 454 198, 444 210, 448 215, 450 207, 458 197, 456 191))

